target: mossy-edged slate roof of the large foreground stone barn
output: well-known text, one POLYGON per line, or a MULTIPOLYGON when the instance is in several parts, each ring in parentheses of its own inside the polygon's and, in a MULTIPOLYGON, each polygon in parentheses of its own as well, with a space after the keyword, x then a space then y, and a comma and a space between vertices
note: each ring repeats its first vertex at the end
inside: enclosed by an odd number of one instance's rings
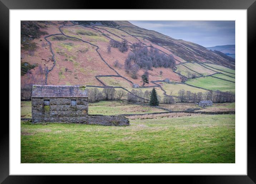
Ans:
POLYGON ((42 86, 33 85, 32 98, 88 97, 85 86, 42 86))

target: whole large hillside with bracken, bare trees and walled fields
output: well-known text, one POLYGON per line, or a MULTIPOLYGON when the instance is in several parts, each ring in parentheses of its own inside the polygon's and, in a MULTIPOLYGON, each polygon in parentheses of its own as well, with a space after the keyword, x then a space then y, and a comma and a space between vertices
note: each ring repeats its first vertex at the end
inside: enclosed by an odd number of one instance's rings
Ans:
MULTIPOLYGON (((215 80, 233 82, 232 68, 235 63, 203 46, 128 21, 21 21, 21 88, 116 86, 131 92, 134 83, 142 86, 141 76, 147 71, 145 86, 148 90, 156 86, 164 96, 169 92, 156 81, 168 78, 187 87, 184 82, 190 78, 218 74, 215 80)), ((181 85, 174 86, 179 90, 181 85)), ((218 86, 194 87, 192 91, 218 90, 218 86)))

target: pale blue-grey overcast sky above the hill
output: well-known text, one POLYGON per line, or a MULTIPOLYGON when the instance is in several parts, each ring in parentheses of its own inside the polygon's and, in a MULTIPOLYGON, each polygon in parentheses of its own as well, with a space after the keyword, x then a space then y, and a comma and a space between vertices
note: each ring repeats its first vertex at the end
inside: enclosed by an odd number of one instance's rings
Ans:
POLYGON ((235 44, 235 21, 129 21, 204 47, 235 44))

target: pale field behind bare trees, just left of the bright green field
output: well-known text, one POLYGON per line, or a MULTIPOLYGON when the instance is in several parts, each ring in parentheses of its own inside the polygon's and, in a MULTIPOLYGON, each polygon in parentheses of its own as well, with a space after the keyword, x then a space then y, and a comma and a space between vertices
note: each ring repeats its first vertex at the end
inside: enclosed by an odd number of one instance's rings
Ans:
POLYGON ((200 88, 196 88, 196 87, 192 87, 192 86, 188 86, 185 84, 179 84, 179 83, 166 83, 166 82, 161 82, 163 85, 163 89, 166 91, 167 94, 170 93, 170 91, 172 90, 172 95, 173 96, 178 96, 178 92, 179 90, 185 90, 185 91, 191 91, 192 93, 198 93, 198 92, 202 92, 205 93, 207 90, 203 90, 200 88))

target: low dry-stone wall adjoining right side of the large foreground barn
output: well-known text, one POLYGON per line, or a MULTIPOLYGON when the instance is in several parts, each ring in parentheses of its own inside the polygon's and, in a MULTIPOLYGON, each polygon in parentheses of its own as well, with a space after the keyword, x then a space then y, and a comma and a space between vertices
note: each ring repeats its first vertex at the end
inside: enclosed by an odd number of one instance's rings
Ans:
POLYGON ((100 124, 105 126, 130 125, 128 118, 126 118, 125 116, 104 116, 104 115, 89 115, 88 124, 100 124))

